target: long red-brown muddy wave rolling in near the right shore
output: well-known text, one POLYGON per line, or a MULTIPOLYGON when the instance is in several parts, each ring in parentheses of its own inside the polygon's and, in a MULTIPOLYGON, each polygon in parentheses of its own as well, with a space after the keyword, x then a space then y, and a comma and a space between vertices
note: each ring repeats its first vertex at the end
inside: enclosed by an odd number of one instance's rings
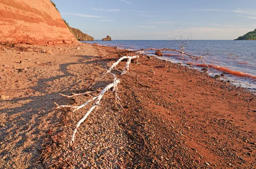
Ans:
MULTIPOLYGON (((199 64, 199 63, 191 63, 191 62, 189 62, 188 64, 199 66, 199 67, 207 67, 207 65, 199 64)), ((217 65, 208 65, 208 66, 209 66, 209 68, 214 68, 214 69, 219 70, 219 71, 224 71, 224 72, 227 72, 227 73, 232 74, 234 76, 249 77, 249 78, 252 78, 252 79, 256 79, 256 76, 254 76, 252 74, 249 74, 249 73, 244 73, 244 72, 241 72, 241 71, 230 70, 229 68, 225 68, 225 67, 221 67, 221 66, 217 66, 217 65)))

